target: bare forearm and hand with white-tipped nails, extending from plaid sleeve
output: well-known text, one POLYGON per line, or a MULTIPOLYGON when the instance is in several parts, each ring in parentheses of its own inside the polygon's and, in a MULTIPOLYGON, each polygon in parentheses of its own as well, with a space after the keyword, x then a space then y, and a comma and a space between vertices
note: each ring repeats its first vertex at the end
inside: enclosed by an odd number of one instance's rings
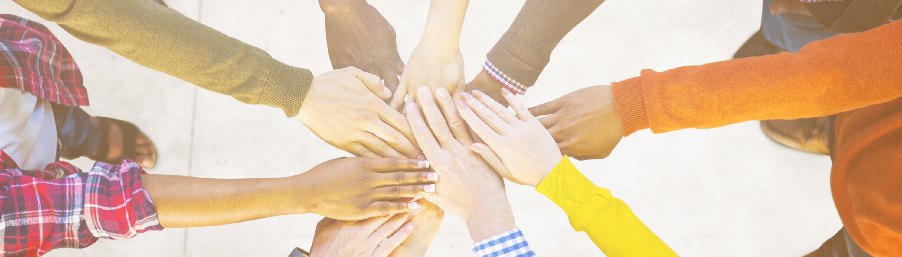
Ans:
POLYGON ((288 178, 203 179, 144 174, 143 187, 163 227, 226 225, 269 216, 316 213, 360 220, 419 209, 434 191, 426 161, 340 158, 288 178))

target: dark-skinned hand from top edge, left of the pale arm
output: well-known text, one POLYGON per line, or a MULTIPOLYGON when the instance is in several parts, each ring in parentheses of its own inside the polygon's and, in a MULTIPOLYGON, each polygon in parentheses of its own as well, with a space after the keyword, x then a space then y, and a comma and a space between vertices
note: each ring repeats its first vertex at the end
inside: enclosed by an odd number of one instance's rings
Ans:
POLYGON ((398 88, 404 61, 398 55, 394 28, 364 0, 320 0, 326 14, 326 42, 333 69, 356 67, 398 88))

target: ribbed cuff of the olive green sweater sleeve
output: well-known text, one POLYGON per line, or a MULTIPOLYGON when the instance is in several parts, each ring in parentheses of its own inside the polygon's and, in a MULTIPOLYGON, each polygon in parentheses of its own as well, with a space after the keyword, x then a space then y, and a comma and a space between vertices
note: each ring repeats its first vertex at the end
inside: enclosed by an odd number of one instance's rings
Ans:
POLYGON ((279 107, 285 111, 286 116, 293 117, 298 115, 300 105, 304 103, 312 82, 313 73, 309 69, 292 67, 281 61, 272 60, 270 76, 266 78, 257 104, 279 107))

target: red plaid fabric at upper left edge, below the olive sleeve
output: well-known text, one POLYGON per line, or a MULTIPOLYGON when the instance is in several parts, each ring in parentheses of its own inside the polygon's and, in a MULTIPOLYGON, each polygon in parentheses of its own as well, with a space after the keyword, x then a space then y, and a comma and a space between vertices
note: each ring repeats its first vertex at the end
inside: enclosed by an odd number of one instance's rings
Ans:
POLYGON ((87 106, 87 88, 69 50, 41 25, 0 14, 0 87, 19 88, 63 106, 87 106))

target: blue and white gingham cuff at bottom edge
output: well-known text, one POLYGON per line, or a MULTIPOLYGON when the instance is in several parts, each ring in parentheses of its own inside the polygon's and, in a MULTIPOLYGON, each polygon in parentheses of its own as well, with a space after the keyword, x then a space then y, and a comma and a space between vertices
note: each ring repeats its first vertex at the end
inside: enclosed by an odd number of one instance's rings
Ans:
POLYGON ((473 253, 479 257, 536 256, 519 227, 473 243, 473 253))

